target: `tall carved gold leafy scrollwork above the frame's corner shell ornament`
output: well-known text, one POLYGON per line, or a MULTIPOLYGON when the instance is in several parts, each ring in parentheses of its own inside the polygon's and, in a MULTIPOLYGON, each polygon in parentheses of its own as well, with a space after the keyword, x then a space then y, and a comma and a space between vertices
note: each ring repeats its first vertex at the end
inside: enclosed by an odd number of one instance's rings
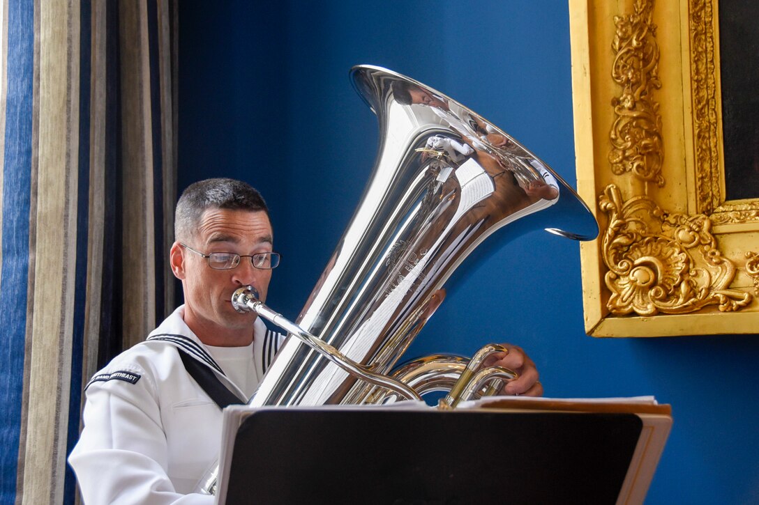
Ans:
POLYGON ((616 118, 609 135, 609 162, 617 175, 631 172, 662 187, 662 121, 653 100, 653 89, 661 87, 659 46, 652 19, 653 0, 637 0, 634 14, 614 17, 612 77, 622 93, 612 100, 616 118))

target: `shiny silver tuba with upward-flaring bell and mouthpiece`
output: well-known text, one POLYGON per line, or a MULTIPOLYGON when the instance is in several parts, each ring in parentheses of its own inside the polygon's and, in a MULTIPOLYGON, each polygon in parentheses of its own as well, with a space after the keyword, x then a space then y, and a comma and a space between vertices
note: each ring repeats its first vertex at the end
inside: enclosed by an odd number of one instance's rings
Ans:
POLYGON ((539 227, 592 240, 597 222, 548 165, 464 105, 385 68, 361 65, 350 74, 379 121, 379 155, 296 322, 252 290, 235 293, 238 310, 291 334, 249 404, 381 403, 445 389, 443 404, 454 406, 498 391, 514 375, 479 369, 502 351, 494 345, 471 361, 428 356, 392 369, 475 248, 487 254, 539 227), (501 227, 508 229, 480 246, 501 227))

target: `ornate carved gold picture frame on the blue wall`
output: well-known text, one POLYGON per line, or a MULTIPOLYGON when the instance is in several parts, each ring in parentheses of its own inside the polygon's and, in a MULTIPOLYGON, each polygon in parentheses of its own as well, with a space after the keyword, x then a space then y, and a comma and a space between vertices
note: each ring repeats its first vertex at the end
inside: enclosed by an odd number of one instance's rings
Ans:
POLYGON ((759 333, 759 199, 725 198, 717 0, 569 15, 578 193, 600 224, 586 333, 759 333))

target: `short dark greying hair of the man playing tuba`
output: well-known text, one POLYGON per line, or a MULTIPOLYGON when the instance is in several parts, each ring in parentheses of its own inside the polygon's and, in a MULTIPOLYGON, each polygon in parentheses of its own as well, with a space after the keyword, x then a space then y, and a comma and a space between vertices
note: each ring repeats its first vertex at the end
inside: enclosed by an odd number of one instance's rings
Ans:
POLYGON ((199 180, 179 197, 174 218, 175 239, 192 237, 207 209, 263 211, 269 215, 263 196, 250 184, 225 177, 199 180))

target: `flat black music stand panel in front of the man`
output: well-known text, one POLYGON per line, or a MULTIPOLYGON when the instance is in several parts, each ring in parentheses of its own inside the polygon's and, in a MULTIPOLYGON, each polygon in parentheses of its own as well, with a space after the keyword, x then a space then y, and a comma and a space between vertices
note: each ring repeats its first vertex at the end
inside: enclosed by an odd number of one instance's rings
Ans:
POLYGON ((632 413, 255 409, 226 503, 615 503, 642 425, 632 413))

